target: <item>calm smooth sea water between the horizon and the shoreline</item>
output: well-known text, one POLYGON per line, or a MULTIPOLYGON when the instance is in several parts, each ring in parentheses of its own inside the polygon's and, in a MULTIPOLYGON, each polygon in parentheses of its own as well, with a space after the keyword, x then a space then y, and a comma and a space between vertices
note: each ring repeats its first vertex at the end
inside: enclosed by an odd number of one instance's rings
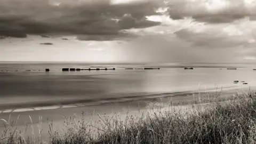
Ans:
POLYGON ((165 63, 155 65, 89 65, 85 63, 0 63, 0 103, 53 99, 106 97, 139 92, 175 92, 239 86, 255 86, 254 64, 165 63), (125 67, 161 67, 159 70, 125 70, 125 67), (183 66, 195 67, 184 70, 183 66), (61 68, 115 67, 116 70, 62 72, 61 68), (220 67, 223 67, 220 69, 220 67), (227 70, 226 67, 241 67, 227 70), (45 68, 50 68, 46 73, 45 68), (18 71, 16 71, 18 70, 18 71), (31 70, 31 71, 26 71, 31 70))

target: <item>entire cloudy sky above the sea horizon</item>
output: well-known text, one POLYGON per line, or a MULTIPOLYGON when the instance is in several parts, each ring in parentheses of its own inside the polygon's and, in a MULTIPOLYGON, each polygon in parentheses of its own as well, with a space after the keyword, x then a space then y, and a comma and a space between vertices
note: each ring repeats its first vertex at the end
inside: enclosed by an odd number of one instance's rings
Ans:
POLYGON ((255 0, 0 3, 0 61, 256 62, 255 0))

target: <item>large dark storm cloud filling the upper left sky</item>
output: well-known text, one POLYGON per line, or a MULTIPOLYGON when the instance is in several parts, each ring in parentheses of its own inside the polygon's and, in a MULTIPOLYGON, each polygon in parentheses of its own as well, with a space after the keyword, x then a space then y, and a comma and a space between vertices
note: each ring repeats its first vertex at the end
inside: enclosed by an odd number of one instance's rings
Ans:
POLYGON ((62 34, 111 37, 124 29, 160 24, 145 18, 157 14, 158 6, 154 2, 113 5, 103 0, 63 1, 59 6, 46 0, 0 0, 0 3, 0 36, 62 34))

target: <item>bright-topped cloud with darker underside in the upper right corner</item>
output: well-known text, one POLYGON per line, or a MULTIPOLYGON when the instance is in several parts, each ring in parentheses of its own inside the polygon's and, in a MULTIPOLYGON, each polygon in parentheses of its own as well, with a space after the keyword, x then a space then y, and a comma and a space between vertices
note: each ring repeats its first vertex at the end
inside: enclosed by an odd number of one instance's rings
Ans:
POLYGON ((174 20, 191 17, 208 23, 229 23, 250 17, 255 19, 256 1, 249 0, 174 0, 167 3, 170 17, 174 20))

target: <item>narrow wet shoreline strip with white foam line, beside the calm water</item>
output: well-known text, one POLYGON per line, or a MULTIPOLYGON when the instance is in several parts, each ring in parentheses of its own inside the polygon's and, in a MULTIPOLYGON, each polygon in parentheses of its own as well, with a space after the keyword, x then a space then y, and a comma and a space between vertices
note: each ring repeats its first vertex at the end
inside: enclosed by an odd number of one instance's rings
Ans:
POLYGON ((57 99, 46 100, 46 101, 32 101, 32 102, 21 102, 21 103, 1 103, 0 104, 0 114, 3 113, 19 113, 25 111, 37 111, 37 110, 51 110, 59 108, 75 108, 75 107, 85 107, 85 106, 100 106, 108 103, 124 103, 132 101, 143 101, 151 99, 169 99, 177 97, 189 97, 193 93, 198 95, 219 92, 222 91, 226 96, 234 95, 236 90, 243 89, 246 86, 229 86, 223 87, 222 89, 209 89, 207 91, 199 90, 197 91, 176 91, 176 92, 141 92, 141 93, 122 93, 122 94, 109 94, 106 97, 100 98, 87 98, 87 99, 57 99), (202 92, 203 91, 203 92, 202 92))

